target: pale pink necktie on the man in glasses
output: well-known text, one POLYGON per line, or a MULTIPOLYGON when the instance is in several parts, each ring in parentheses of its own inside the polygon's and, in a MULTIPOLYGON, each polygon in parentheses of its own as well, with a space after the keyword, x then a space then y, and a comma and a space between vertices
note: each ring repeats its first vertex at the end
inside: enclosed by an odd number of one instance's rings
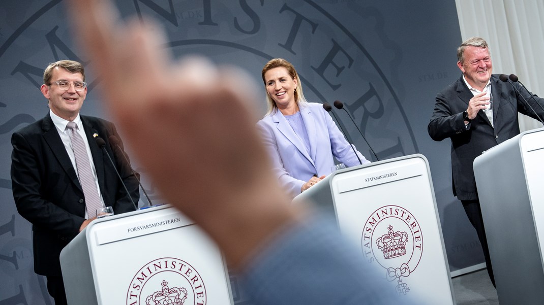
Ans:
POLYGON ((88 218, 92 218, 96 216, 96 209, 102 207, 102 202, 100 200, 100 195, 98 195, 94 177, 92 177, 89 155, 87 155, 83 138, 77 133, 76 123, 68 122, 66 127, 71 130, 70 139, 72 141, 73 154, 76 156, 79 183, 81 183, 83 194, 85 195, 85 207, 87 209, 88 218))

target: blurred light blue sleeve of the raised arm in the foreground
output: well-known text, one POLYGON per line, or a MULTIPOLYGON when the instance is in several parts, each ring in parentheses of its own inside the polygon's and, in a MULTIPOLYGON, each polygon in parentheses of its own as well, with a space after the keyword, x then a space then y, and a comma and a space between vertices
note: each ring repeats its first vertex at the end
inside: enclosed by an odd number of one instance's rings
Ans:
POLYGON ((413 304, 375 268, 334 219, 319 216, 276 236, 246 266, 242 284, 254 304, 413 304))

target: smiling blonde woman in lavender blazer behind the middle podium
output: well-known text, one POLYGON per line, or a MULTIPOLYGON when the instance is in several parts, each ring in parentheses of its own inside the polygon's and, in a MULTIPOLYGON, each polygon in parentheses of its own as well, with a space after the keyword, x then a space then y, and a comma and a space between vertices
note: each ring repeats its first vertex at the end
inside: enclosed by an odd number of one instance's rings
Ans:
MULTIPOLYGON (((268 112, 259 120, 273 170, 294 198, 332 172, 333 156, 346 166, 360 164, 351 145, 322 104, 308 103, 299 75, 285 59, 270 60, 262 77, 268 112)), ((369 163, 357 151, 361 162, 369 163)))

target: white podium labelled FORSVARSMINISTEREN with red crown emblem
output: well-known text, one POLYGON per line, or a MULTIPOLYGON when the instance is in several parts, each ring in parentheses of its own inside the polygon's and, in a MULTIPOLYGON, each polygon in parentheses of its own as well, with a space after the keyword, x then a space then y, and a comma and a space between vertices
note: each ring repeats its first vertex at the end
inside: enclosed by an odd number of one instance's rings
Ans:
POLYGON ((60 264, 69 304, 233 304, 219 248, 169 205, 92 221, 60 264))

